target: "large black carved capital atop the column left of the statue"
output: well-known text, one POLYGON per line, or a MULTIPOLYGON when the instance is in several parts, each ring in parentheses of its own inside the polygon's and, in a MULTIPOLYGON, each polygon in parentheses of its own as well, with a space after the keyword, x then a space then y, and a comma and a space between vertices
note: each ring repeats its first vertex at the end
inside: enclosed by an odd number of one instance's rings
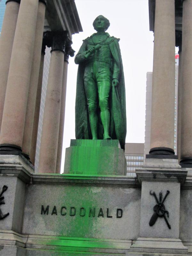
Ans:
POLYGON ((44 32, 46 45, 51 47, 53 51, 65 53, 65 47, 71 40, 68 37, 68 30, 65 31, 46 31, 44 32))

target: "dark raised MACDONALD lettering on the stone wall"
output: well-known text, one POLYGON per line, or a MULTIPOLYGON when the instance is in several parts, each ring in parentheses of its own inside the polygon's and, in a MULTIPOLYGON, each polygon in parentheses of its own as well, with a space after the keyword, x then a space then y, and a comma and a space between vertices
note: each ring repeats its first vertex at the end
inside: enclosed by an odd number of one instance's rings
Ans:
POLYGON ((84 208, 84 207, 66 207, 66 206, 61 206, 61 207, 56 207, 55 205, 53 207, 50 207, 49 205, 41 205, 41 214, 42 215, 68 215, 68 216, 89 216, 89 217, 106 217, 106 218, 122 218, 123 217, 123 210, 120 208, 116 209, 116 214, 115 216, 112 216, 110 214, 110 209, 102 209, 102 208, 95 208, 95 207, 89 207, 89 208, 84 208))

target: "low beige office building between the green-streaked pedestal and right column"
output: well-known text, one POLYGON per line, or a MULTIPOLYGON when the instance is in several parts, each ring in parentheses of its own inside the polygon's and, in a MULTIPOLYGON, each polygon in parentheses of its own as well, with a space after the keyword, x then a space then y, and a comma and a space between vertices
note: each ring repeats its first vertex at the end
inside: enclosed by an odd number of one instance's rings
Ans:
POLYGON ((144 161, 144 143, 125 143, 127 176, 136 176, 135 169, 140 169, 144 161))

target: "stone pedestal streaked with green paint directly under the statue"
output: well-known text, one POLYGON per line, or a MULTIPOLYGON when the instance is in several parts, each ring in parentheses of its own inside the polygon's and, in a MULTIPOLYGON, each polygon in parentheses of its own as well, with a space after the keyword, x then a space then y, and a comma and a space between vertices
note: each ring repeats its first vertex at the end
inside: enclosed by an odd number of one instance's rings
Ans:
POLYGON ((126 159, 118 140, 71 140, 64 173, 126 175, 126 159))

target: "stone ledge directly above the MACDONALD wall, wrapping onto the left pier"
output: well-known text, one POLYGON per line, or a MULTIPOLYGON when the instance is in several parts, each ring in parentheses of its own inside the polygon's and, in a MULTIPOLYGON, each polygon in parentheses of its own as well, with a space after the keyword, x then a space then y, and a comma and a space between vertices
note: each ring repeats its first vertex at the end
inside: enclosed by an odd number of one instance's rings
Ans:
POLYGON ((26 184, 52 184, 52 185, 82 185, 82 186, 111 186, 137 188, 140 184, 136 177, 108 176, 108 175, 81 175, 81 174, 44 174, 30 173, 21 165, 1 166, 0 176, 18 177, 26 184))

